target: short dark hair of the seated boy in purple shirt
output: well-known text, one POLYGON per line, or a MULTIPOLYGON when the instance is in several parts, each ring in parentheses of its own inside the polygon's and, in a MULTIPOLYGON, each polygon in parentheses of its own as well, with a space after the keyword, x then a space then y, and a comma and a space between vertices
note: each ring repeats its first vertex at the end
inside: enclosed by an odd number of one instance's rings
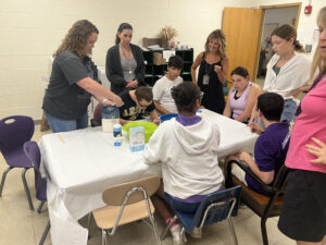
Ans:
POLYGON ((265 93, 258 97, 256 108, 268 121, 279 121, 284 110, 284 99, 276 93, 265 93))

